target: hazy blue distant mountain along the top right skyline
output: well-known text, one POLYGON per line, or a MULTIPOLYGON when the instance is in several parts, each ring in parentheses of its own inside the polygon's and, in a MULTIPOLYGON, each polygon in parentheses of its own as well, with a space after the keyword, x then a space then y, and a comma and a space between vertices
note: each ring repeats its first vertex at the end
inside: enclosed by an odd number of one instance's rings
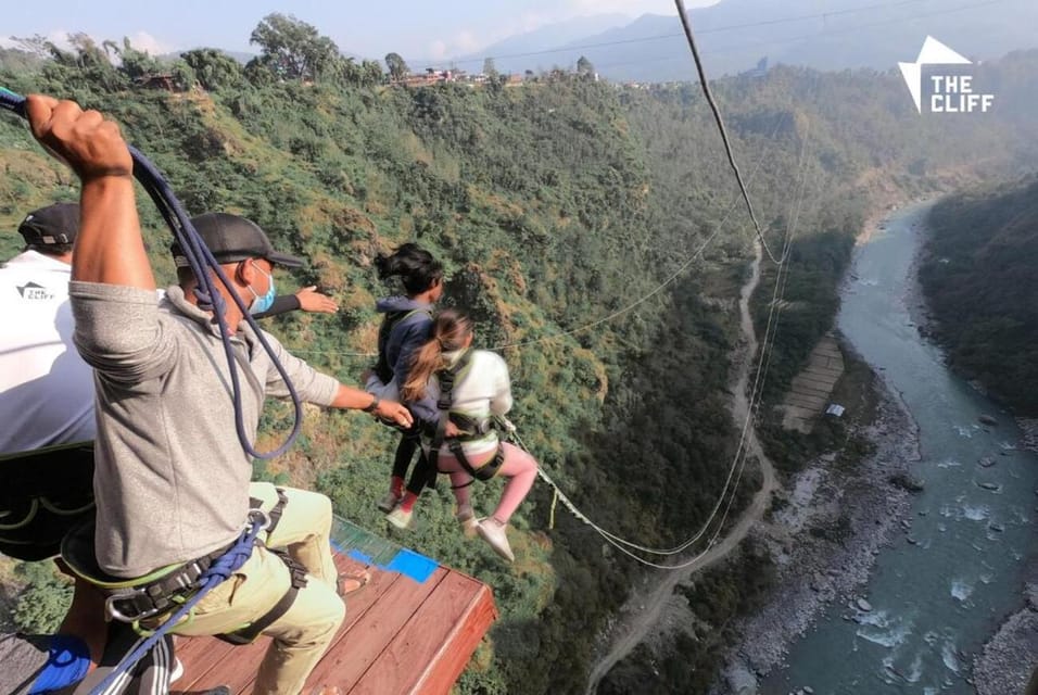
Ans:
MULTIPOLYGON (((707 70, 716 76, 750 70, 764 56, 772 64, 886 71, 898 61, 914 60, 927 35, 977 59, 1038 47, 1034 28, 1038 26, 1038 3, 1033 0, 983 5, 952 1, 919 0, 883 7, 863 0, 828 0, 823 5, 817 0, 722 0, 692 10, 689 16, 707 70)), ((506 54, 488 49, 480 55, 494 52, 506 54)), ((554 48, 507 52, 516 53, 524 55, 498 58, 497 68, 523 72, 572 67, 584 55, 599 74, 615 80, 695 77, 676 16, 647 14, 554 48)), ((482 66, 482 58, 466 60, 470 65, 479 60, 476 70, 482 66)))

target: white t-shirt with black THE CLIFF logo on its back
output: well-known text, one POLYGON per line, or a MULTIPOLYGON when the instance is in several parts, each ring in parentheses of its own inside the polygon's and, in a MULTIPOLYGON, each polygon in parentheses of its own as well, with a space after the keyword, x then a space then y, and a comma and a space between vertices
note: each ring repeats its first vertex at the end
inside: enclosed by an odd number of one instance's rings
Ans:
POLYGON ((92 440, 93 370, 72 342, 72 266, 26 251, 0 266, 0 454, 92 440))

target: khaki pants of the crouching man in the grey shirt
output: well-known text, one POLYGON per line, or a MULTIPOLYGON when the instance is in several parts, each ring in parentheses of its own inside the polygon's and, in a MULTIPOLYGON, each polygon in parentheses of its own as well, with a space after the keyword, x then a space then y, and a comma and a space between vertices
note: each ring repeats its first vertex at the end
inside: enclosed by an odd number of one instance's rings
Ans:
MULTIPOLYGON (((274 642, 256 674, 255 695, 300 693, 346 614, 336 592, 338 571, 329 542, 331 501, 315 492, 282 490, 289 501, 266 544, 287 547, 306 568, 308 581, 288 612, 263 632, 274 642)), ((278 501, 270 483, 252 483, 249 494, 262 500, 267 510, 278 501)), ((266 614, 290 584, 284 563, 257 547, 241 569, 199 602, 194 620, 174 632, 191 636, 232 632, 266 614)))

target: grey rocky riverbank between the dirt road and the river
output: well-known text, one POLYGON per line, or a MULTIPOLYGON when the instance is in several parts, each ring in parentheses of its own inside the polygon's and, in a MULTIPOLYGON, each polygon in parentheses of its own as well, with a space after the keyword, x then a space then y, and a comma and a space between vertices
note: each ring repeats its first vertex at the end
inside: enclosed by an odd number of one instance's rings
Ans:
POLYGON ((910 476, 919 460, 917 428, 882 380, 876 388, 876 417, 860 427, 874 452, 853 466, 841 466, 835 454, 811 462, 771 520, 755 529, 777 567, 775 601, 742 626, 746 636, 730 655, 718 695, 756 693, 757 679, 782 664, 827 604, 866 608, 857 590, 881 547, 910 529, 909 493, 891 479, 910 476))

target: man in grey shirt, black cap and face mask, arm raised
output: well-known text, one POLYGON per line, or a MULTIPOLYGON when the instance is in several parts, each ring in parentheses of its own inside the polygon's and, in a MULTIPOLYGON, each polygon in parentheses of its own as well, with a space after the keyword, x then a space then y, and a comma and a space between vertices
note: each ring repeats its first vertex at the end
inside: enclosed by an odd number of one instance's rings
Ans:
MULTIPOLYGON (((188 271, 156 305, 132 162, 118 127, 73 102, 34 96, 26 106, 34 135, 83 184, 69 296, 76 345, 97 370, 97 559, 109 573, 128 579, 191 563, 238 538, 252 492, 252 463, 235 432, 229 371, 212 312, 199 306, 195 278, 188 271)), ((265 396, 284 396, 287 388, 271 357, 257 348, 231 293, 250 311, 262 308, 265 298, 273 296, 275 264, 291 257, 274 251, 266 235, 242 218, 217 215, 212 226, 202 233, 214 241, 230 281, 231 287, 218 291, 244 377, 245 434, 254 441, 265 396)), ((292 356, 273 336, 265 339, 304 401, 412 425, 398 403, 343 386, 292 356)), ((260 695, 299 693, 344 616, 325 525, 330 525, 331 505, 322 495, 304 494, 304 500, 290 496, 267 539, 270 546, 288 546, 309 581, 288 611, 264 630, 274 641, 256 677, 253 692, 260 695), (303 535, 303 525, 290 519, 298 515, 319 518, 321 526, 303 535)), ((284 564, 258 546, 177 631, 238 630, 268 612, 290 581, 284 564)))

